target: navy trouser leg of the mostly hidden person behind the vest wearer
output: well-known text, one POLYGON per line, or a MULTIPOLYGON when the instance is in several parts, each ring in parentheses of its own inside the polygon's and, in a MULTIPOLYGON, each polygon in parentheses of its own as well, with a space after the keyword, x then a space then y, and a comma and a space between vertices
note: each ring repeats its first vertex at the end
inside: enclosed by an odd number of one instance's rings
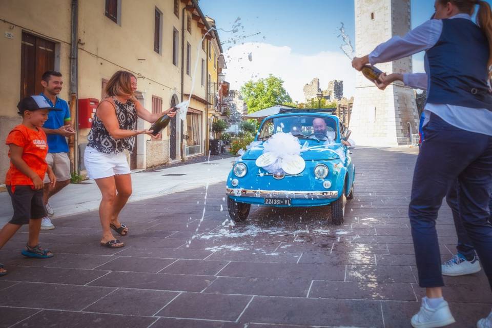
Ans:
MULTIPOLYGON (((475 257, 475 247, 468 237, 468 233, 466 232, 466 229, 463 226, 463 222, 460 217, 458 180, 456 180, 456 183, 451 186, 451 188, 449 188, 449 191, 446 195, 446 202, 453 212, 453 220, 455 221, 456 235, 458 236, 458 244, 456 245, 456 250, 458 251, 458 253, 466 257, 468 261, 471 261, 475 257)), ((490 197, 488 207, 490 212, 488 221, 492 223, 492 197, 490 197)))

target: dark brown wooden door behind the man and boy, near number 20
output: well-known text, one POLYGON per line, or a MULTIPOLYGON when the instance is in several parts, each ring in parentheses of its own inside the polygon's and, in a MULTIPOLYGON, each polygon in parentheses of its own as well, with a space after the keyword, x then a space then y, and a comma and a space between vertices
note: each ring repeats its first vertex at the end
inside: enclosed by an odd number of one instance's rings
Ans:
POLYGON ((55 68, 55 43, 22 32, 20 46, 20 98, 43 91, 41 76, 55 68))

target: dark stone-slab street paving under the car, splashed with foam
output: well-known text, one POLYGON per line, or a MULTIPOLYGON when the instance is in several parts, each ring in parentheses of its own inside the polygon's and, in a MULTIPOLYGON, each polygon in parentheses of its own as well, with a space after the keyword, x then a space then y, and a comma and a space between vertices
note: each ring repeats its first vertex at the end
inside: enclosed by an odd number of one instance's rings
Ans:
MULTIPOLYGON (((122 249, 99 246, 97 212, 54 220, 52 259, 22 258, 24 230, 0 251, 0 327, 409 327, 424 295, 406 214, 416 151, 354 151, 341 227, 326 208, 254 208, 231 226, 217 183, 128 204, 122 249)), ((447 207, 438 232, 448 259, 447 207)), ((450 327, 474 327, 492 306, 483 272, 445 281, 450 327)))

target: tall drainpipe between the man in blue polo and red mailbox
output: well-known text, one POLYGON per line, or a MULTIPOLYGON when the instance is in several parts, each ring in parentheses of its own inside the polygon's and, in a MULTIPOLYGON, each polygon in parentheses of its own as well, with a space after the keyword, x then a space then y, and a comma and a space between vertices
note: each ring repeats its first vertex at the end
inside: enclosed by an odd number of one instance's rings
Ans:
POLYGON ((72 30, 70 39, 70 94, 71 94, 71 111, 70 116, 74 122, 74 141, 73 141, 73 172, 79 174, 78 169, 78 63, 77 63, 77 46, 78 46, 78 0, 72 0, 72 30), (72 113, 73 112, 73 113, 72 113))

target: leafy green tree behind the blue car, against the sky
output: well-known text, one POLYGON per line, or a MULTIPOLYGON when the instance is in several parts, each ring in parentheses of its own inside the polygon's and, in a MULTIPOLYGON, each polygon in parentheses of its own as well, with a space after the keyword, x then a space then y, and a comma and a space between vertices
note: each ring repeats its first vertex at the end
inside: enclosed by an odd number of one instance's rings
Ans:
POLYGON ((269 108, 276 104, 292 103, 292 98, 283 88, 283 80, 270 74, 257 81, 249 80, 241 87, 241 95, 248 113, 269 108))

